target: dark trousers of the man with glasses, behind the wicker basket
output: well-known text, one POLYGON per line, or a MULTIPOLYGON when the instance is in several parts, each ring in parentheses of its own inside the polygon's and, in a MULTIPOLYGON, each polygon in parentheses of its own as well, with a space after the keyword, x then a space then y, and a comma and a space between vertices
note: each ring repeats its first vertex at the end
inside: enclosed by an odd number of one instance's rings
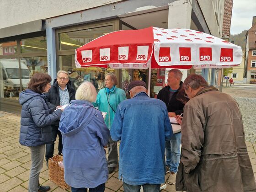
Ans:
POLYGON ((59 126, 54 126, 51 125, 51 135, 52 135, 52 143, 46 144, 45 148, 45 160, 49 160, 50 158, 53 157, 53 152, 54 152, 54 142, 56 141, 57 135, 59 135, 59 145, 58 145, 58 150, 59 154, 62 153, 63 145, 62 145, 62 135, 60 131, 58 130, 59 126))

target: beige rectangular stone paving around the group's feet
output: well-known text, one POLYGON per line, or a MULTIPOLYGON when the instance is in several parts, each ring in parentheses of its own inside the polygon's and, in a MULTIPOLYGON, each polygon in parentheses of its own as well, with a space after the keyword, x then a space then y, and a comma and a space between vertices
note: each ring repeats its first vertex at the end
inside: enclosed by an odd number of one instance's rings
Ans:
MULTIPOLYGON (((27 192, 29 169, 31 166, 30 149, 19 144, 20 117, 11 113, 0 112, 0 192, 27 192)), ((57 139, 58 141, 58 139, 57 139)), ((246 142, 256 177, 256 144, 246 142)), ((55 144, 54 153, 58 153, 58 144, 55 144)), ((118 147, 119 148, 119 147, 118 147)), ((162 192, 176 192, 175 185, 169 185, 162 192)), ((40 173, 41 185, 51 187, 50 191, 70 192, 70 188, 63 190, 48 179, 46 163, 40 173)), ((105 192, 123 192, 123 183, 118 180, 118 169, 109 175, 105 192)))

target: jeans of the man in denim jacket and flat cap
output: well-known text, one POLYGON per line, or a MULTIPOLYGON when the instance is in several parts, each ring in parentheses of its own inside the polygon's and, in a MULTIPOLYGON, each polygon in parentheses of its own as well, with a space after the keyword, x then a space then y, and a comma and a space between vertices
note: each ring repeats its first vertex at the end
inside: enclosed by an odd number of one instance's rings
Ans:
MULTIPOLYGON (((124 192, 140 192, 141 185, 129 185, 127 183, 123 183, 124 192)), ((160 192, 161 184, 144 184, 142 185, 144 192, 160 192)))

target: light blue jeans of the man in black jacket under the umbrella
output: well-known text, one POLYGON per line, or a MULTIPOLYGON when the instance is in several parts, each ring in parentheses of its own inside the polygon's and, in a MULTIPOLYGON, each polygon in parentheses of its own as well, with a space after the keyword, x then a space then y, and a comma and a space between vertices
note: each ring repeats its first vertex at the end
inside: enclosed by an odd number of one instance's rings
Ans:
POLYGON ((170 167, 170 171, 176 173, 180 163, 181 156, 181 133, 175 133, 171 136, 171 140, 165 142, 166 165, 170 167))

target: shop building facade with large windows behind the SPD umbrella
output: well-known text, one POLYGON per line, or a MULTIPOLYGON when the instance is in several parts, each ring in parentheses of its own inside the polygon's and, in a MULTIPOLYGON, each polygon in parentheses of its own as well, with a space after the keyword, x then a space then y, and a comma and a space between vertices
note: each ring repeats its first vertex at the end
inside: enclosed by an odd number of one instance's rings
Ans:
MULTIPOLYGON (((34 73, 56 78, 67 70, 77 88, 91 81, 97 91, 104 87, 104 74, 114 72, 118 87, 127 90, 131 80, 149 84, 155 97, 165 86, 169 69, 75 68, 75 49, 109 32, 145 27, 188 28, 222 36, 223 0, 23 0, 3 1, 0 7, 0 110, 19 113, 19 92, 27 88, 34 73), (21 9, 22 8, 22 9, 21 9), (13 16, 9 16, 10 12, 13 16)), ((184 74, 196 73, 194 69, 184 74)), ((217 69, 201 74, 215 85, 217 69)))

